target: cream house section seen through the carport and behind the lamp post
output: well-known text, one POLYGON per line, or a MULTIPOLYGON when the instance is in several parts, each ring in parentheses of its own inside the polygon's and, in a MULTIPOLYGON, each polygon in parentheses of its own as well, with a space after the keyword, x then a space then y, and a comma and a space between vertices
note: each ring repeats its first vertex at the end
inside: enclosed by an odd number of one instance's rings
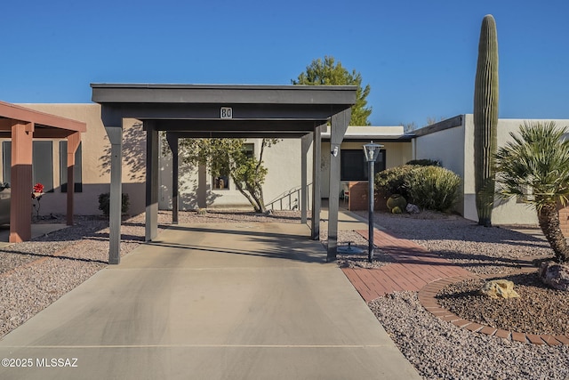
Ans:
MULTIPOLYGON (((382 155, 376 164, 379 172, 388 167, 405 164, 412 159, 411 138, 404 133, 403 126, 349 126, 341 144, 341 182, 346 188, 348 182, 367 181, 367 166, 363 155, 363 145, 370 141, 381 143, 384 148, 382 155)), ((259 157, 260 139, 248 140, 247 143, 259 157)), ((329 198, 329 171, 330 171, 330 133, 322 133, 322 198, 329 198)), ((309 155, 311 158, 311 155, 309 155)), ((273 209, 293 209, 300 206, 301 197, 301 140, 284 139, 265 150, 263 161, 268 167, 268 176, 263 187, 265 204, 273 209)), ((172 165, 171 158, 162 156, 161 166, 169 168, 172 165)), ((309 178, 312 160, 309 159, 309 178)), ((199 183, 204 183, 206 194, 201 197, 207 199, 206 204, 210 207, 250 207, 246 199, 235 190, 234 183, 230 178, 222 178, 223 185, 219 186, 217 179, 205 173, 202 168, 182 166, 180 167, 180 205, 182 209, 195 209, 200 206, 199 183), (202 178, 202 180, 200 180, 202 178)), ((163 209, 172 207, 170 191, 172 183, 172 171, 162 170, 160 184, 162 191, 159 206, 163 209)), ((311 184, 309 184, 309 187, 311 184)), ((341 187, 341 189, 342 189, 341 187)), ((309 191, 309 196, 311 192, 309 191)), ((340 197, 341 194, 338 194, 340 197)))

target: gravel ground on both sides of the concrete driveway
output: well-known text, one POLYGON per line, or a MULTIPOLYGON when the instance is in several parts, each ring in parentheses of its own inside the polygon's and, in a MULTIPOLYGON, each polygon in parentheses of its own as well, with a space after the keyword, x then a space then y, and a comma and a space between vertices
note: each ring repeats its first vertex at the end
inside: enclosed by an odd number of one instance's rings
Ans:
MULTIPOLYGON (((366 216, 366 213, 362 216, 366 216)), ((551 255, 547 243, 511 230, 478 227, 457 216, 423 213, 391 215, 376 213, 375 222, 390 232, 437 252, 469 271, 479 274, 507 273, 519 268, 517 259, 551 255)), ((159 230, 170 222, 169 213, 159 213, 159 230)), ((244 212, 209 211, 204 215, 180 213, 180 223, 278 221, 298 222, 299 213, 283 212, 263 216, 244 212)), ((121 255, 126 255, 144 239, 144 215, 123 222, 121 255)), ((321 240, 326 239, 325 230, 321 240)), ((389 263, 389 255, 375 250, 374 263, 366 262, 367 242, 353 231, 339 233, 339 245, 351 241, 364 249, 363 255, 339 255, 342 266, 381 266, 389 263)), ((0 336, 20 326, 72 288, 106 266, 108 259, 108 222, 98 217, 78 217, 76 225, 53 232, 31 242, 0 248, 0 336)), ((521 280, 518 280, 520 282, 521 280)), ((487 308, 481 298, 471 298, 460 306, 456 294, 469 294, 470 284, 445 288, 447 307, 461 307, 464 312, 487 308), (472 307, 474 305, 474 307, 472 307)), ((474 285, 472 285, 474 286, 474 285)), ((517 288, 520 294, 524 291, 517 288)), ((470 294, 469 294, 470 296, 470 294)), ((551 306, 551 298, 533 295, 532 303, 551 306)), ((524 300, 524 298, 522 298, 524 300)), ((463 300, 461 300, 462 302, 463 300)), ((566 305, 565 305, 566 306, 566 305)), ((564 307, 565 307, 564 306, 564 307)), ((401 292, 369 303, 389 336, 426 379, 567 379, 569 347, 549 347, 509 342, 501 338, 471 333, 437 319, 425 311, 416 293, 401 292)), ((496 307, 504 320, 512 319, 520 308, 496 307)), ((523 309, 527 309, 524 303, 523 309)), ((561 309, 561 307, 559 307, 561 309)), ((567 312, 557 319, 556 328, 567 333, 567 312)), ((527 311, 527 317, 533 315, 527 311)), ((485 314, 488 318, 487 314, 485 314)), ((516 317, 522 319, 522 317, 516 317)), ((530 320, 532 319, 530 318, 530 320)), ((498 318, 493 318, 497 320, 498 318)), ((489 323, 489 322, 486 322, 489 323)), ((524 323, 524 322, 520 322, 524 323)), ((513 325, 512 325, 513 326, 513 325)), ((543 328, 549 328, 544 327, 543 328)), ((549 330, 544 330, 549 331, 549 330)), ((553 331, 553 330, 552 330, 553 331)), ((555 330, 558 331, 558 330, 555 330)))

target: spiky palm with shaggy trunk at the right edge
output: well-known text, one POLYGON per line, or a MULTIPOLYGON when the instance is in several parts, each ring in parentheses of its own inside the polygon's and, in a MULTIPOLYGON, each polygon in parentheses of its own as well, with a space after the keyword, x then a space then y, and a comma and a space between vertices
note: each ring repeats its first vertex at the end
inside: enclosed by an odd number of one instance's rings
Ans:
POLYGON ((567 127, 554 122, 524 123, 513 141, 496 153, 497 181, 502 198, 518 197, 535 206, 541 231, 557 263, 566 263, 569 248, 559 224, 559 206, 569 200, 569 140, 567 127))

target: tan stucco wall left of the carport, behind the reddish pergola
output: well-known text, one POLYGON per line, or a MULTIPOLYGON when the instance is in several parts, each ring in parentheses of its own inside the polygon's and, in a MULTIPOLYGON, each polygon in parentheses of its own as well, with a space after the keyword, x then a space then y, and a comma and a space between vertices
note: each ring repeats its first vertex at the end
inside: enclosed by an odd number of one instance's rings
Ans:
MULTIPOLYGON (((109 154, 110 144, 107 133, 100 120, 99 104, 21 104, 29 109, 68 117, 87 124, 87 132, 82 133, 82 182, 83 191, 76 193, 76 214, 101 214, 99 194, 110 190, 109 154)), ((123 192, 129 194, 129 214, 140 214, 145 209, 145 147, 140 138, 141 126, 136 120, 124 120, 124 158, 123 192), (135 125, 135 126, 133 126, 135 125)), ((67 193, 60 189, 60 146, 53 139, 53 187, 52 193, 46 193, 41 201, 40 214, 63 214, 66 210, 67 193)), ((2 147, 0 146, 0 150, 2 147)))

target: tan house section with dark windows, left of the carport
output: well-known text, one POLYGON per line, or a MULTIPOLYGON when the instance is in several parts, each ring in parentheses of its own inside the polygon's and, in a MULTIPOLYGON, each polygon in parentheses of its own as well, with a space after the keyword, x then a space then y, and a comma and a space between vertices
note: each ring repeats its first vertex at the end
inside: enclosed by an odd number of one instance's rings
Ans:
MULTIPOLYGON (((87 132, 76 152, 75 214, 101 214, 99 195, 110 189, 110 144, 100 120, 98 104, 21 104, 60 117, 82 121, 87 132)), ((141 126, 137 120, 124 120, 124 174, 123 190, 129 194, 130 214, 140 214, 145 209, 145 146, 140 139, 141 126)), ((65 214, 67 199, 67 175, 65 172, 65 139, 34 141, 33 182, 44 185, 40 215, 65 214)), ((10 182, 10 140, 0 144, 3 158, 3 182, 10 182)))

